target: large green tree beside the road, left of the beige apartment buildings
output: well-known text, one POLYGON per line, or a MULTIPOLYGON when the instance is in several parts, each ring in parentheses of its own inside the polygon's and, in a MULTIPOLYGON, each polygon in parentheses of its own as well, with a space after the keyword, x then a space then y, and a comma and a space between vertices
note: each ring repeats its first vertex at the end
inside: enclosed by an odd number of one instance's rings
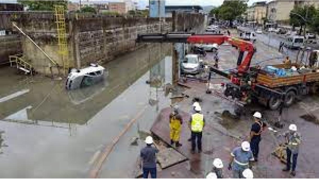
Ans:
POLYGON ((229 20, 229 24, 233 26, 233 20, 243 14, 247 9, 247 1, 224 1, 218 7, 218 16, 220 19, 229 20))

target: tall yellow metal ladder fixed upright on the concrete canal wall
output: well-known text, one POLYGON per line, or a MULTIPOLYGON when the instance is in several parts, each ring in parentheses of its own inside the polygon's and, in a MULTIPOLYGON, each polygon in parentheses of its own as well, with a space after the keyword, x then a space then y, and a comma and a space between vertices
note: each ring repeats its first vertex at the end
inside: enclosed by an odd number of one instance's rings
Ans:
POLYGON ((58 36, 58 53, 61 55, 62 63, 63 63, 63 71, 69 68, 69 50, 66 38, 66 30, 65 30, 65 17, 64 17, 64 6, 56 5, 55 6, 56 13, 56 25, 57 25, 57 36, 58 36))

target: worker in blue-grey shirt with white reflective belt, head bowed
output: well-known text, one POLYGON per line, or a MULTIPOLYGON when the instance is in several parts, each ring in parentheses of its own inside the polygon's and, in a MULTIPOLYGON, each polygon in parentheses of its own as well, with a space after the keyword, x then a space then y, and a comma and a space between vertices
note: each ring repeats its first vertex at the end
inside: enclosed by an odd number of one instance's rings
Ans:
POLYGON ((242 142, 241 147, 234 148, 230 155, 228 170, 233 170, 233 178, 243 178, 242 172, 250 168, 251 161, 254 161, 249 142, 242 142))

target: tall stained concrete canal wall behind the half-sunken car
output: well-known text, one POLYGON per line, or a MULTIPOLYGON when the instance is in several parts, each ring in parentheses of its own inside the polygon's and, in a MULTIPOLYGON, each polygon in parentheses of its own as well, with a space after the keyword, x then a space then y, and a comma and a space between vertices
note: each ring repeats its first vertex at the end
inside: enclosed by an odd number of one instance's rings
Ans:
MULTIPOLYGON (((13 13, 13 12, 12 12, 13 13)), ((0 12, 1 14, 1 12, 0 12)), ((8 16, 8 15, 6 15, 8 16)), ((28 34, 53 60, 63 66, 65 59, 58 54, 55 15, 53 12, 14 12, 11 21, 28 34)), ((106 15, 67 14, 66 33, 70 67, 82 68, 90 62, 107 62, 115 57, 144 47, 135 43, 137 34, 171 32, 173 24, 177 31, 195 31, 204 24, 200 14, 177 13, 172 18, 111 17, 106 15)), ((11 26, 11 30, 20 33, 11 26)), ((49 60, 26 37, 22 37, 22 51, 35 71, 57 74, 63 69, 52 67, 49 60)), ((64 69, 65 70, 65 69, 64 69)))

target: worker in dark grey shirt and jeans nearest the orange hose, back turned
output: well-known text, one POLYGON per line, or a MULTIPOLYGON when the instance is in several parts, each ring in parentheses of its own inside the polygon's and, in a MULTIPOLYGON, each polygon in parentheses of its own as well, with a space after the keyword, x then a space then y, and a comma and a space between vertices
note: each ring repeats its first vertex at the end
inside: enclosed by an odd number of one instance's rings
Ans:
POLYGON ((141 150, 141 163, 140 166, 143 169, 143 178, 147 178, 148 174, 151 174, 152 178, 156 178, 156 153, 158 149, 152 147, 153 138, 147 136, 145 139, 146 147, 141 150))

